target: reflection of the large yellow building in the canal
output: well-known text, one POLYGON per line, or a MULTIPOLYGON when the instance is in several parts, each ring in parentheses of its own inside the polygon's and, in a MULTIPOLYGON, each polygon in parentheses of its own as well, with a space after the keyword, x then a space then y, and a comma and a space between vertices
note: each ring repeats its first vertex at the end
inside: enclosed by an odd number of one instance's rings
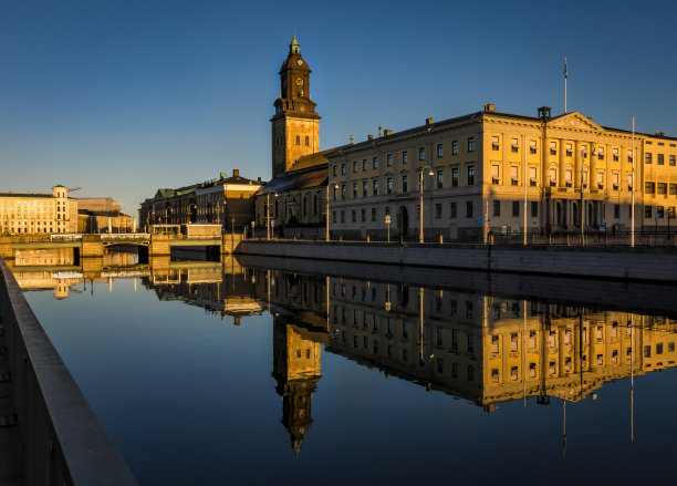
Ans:
POLYGON ((677 360, 674 319, 404 283, 256 275, 257 294, 273 312, 296 325, 324 325, 326 351, 488 412, 518 399, 577 402, 606 382, 677 360))

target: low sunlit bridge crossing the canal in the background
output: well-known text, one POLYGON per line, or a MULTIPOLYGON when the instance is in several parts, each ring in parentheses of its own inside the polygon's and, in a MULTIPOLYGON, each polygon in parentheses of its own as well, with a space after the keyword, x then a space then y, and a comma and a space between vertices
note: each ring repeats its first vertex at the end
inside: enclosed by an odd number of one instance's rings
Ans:
POLYGON ((113 246, 137 246, 140 260, 148 257, 169 256, 173 248, 205 249, 219 255, 229 255, 232 254, 232 249, 237 247, 241 239, 242 235, 240 234, 199 237, 146 232, 10 236, 0 237, 0 258, 13 260, 18 251, 61 248, 72 248, 75 260, 80 258, 102 258, 104 249, 113 246))

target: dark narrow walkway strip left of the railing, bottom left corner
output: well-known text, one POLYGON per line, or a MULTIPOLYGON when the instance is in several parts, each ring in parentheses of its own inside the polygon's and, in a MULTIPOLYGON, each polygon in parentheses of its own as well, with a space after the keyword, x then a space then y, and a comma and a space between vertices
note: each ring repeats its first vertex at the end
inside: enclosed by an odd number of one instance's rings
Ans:
POLYGON ((0 486, 23 485, 23 445, 14 410, 4 327, 0 319, 0 486))

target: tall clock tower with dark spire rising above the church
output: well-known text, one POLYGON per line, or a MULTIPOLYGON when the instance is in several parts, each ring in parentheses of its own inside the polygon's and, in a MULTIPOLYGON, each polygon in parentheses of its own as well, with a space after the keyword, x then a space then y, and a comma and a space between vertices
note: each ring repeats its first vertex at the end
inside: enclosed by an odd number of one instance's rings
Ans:
POLYGON ((299 157, 320 151, 320 115, 310 97, 310 73, 294 34, 280 69, 280 97, 270 118, 273 178, 284 176, 299 157))

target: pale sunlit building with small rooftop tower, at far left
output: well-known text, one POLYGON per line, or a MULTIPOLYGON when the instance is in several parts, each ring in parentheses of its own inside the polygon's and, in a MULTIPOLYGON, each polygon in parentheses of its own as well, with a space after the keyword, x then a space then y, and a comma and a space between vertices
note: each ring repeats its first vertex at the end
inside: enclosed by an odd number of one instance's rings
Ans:
POLYGON ((52 194, 0 193, 0 234, 35 235, 77 231, 77 200, 64 186, 52 194))

